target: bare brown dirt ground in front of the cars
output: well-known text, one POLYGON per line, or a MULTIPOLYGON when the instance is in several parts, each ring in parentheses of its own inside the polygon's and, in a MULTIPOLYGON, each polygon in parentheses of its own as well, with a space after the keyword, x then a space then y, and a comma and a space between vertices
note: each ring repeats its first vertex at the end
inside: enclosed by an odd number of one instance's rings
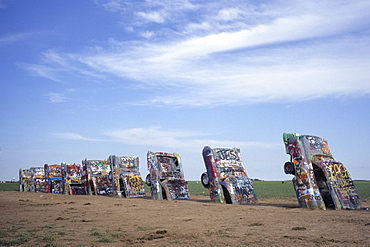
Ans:
POLYGON ((0 245, 370 246, 370 210, 303 209, 295 198, 229 205, 208 196, 158 201, 0 191, 0 224, 0 245))

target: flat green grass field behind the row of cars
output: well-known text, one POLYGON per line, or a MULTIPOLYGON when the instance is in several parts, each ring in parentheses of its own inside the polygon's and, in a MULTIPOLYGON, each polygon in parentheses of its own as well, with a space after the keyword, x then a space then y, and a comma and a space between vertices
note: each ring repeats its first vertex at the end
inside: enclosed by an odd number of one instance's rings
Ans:
MULTIPOLYGON (((370 181, 354 181, 360 199, 370 199, 370 181)), ((189 181, 190 195, 209 195, 199 181, 189 181)), ((295 197, 293 184, 291 181, 254 181, 254 188, 258 198, 286 198, 295 197)), ((18 191, 18 183, 2 183, 0 191, 18 191)), ((145 185, 145 190, 150 191, 145 185)))

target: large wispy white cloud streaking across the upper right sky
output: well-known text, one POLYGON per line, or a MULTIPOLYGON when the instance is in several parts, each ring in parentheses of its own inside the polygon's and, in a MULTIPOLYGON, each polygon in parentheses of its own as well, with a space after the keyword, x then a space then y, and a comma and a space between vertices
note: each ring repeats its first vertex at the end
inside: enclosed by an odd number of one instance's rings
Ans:
POLYGON ((130 2, 105 1, 106 8, 136 15, 122 21, 148 41, 80 54, 52 51, 34 69, 54 78, 46 69, 53 64, 162 92, 135 104, 209 106, 370 93, 368 1, 231 2, 150 1, 139 11, 130 2), (151 29, 148 22, 166 26, 151 29))

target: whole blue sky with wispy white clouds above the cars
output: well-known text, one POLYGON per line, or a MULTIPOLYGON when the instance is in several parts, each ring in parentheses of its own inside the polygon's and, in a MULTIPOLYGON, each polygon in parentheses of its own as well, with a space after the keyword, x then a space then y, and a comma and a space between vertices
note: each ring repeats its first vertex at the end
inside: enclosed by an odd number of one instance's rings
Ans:
POLYGON ((370 179, 370 2, 0 0, 0 180, 109 155, 241 149, 286 180, 282 134, 370 179))

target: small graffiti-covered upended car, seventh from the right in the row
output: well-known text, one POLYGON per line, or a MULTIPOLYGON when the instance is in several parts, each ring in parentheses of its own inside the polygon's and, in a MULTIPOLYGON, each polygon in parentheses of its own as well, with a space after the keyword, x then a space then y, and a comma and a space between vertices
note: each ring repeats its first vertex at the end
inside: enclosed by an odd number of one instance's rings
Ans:
POLYGON ((44 165, 46 193, 64 194, 65 177, 63 167, 58 164, 44 165))

